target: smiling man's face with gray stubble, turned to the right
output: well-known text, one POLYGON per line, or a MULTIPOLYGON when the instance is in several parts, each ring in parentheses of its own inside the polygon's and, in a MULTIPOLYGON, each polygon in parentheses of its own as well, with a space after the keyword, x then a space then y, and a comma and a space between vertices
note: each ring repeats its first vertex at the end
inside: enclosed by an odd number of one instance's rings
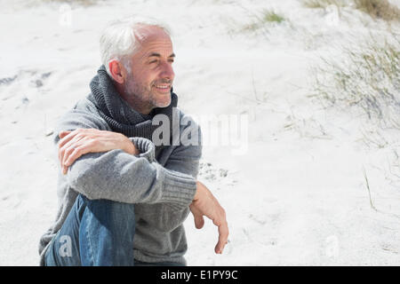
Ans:
POLYGON ((170 36, 161 28, 144 29, 138 40, 140 48, 129 59, 124 91, 128 101, 140 103, 142 110, 150 112, 154 107, 171 104, 175 55, 170 36))

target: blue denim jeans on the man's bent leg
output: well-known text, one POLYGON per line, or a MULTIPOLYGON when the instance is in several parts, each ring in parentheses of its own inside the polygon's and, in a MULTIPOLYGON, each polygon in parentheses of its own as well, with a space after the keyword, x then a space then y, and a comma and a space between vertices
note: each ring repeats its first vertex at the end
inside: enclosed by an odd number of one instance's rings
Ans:
POLYGON ((46 266, 180 265, 135 262, 134 205, 79 194, 44 256, 46 266))

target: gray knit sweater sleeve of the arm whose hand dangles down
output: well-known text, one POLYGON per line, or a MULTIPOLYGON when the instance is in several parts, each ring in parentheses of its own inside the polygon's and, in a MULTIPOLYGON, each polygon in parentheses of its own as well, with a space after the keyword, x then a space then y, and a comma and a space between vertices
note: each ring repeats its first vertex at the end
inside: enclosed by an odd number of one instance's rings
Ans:
MULTIPOLYGON (((60 130, 95 128, 107 130, 100 118, 74 110, 61 119, 60 130)), ((55 138, 56 146, 59 138, 55 138)), ((143 142, 143 141, 142 141, 143 142)), ((172 203, 186 208, 196 193, 196 179, 188 174, 168 170, 149 159, 154 150, 141 156, 122 150, 84 154, 67 173, 68 184, 89 199, 108 199, 128 203, 172 203)))

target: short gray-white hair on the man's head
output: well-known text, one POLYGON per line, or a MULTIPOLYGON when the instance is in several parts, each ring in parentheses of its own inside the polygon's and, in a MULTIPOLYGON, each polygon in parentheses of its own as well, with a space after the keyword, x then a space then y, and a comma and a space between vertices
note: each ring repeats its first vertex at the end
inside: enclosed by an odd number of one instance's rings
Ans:
POLYGON ((164 24, 157 20, 143 17, 131 16, 113 20, 104 28, 100 36, 100 56, 108 75, 110 75, 108 63, 114 59, 122 62, 128 70, 130 69, 129 65, 125 64, 124 59, 127 56, 132 56, 137 51, 139 48, 137 38, 142 36, 139 33, 139 28, 146 26, 162 28, 168 36, 171 36, 170 29, 164 24))

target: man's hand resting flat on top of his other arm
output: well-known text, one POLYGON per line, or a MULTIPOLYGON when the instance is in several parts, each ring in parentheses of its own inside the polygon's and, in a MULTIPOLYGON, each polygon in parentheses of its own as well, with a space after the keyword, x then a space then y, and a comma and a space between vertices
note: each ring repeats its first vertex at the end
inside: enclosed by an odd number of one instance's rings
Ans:
POLYGON ((77 129, 61 131, 59 137, 59 160, 64 175, 67 173, 68 167, 83 154, 108 152, 114 149, 124 150, 128 154, 139 154, 139 150, 132 141, 121 133, 77 129))

